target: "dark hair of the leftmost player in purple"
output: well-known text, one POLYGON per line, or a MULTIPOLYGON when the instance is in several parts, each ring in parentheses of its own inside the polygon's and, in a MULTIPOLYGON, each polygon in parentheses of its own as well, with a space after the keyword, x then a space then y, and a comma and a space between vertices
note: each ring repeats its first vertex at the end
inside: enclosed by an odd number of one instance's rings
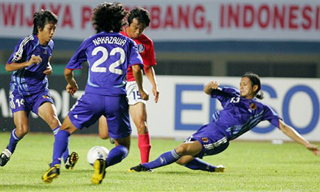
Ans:
POLYGON ((35 12, 33 15, 33 35, 37 35, 39 33, 38 26, 43 30, 45 25, 53 22, 56 24, 58 22, 58 17, 56 14, 52 13, 50 10, 39 10, 35 12))

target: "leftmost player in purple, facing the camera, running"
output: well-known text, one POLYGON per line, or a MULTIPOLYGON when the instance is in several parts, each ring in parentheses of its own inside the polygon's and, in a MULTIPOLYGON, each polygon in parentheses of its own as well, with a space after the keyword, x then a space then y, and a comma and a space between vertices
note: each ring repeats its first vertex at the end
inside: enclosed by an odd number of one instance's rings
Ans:
MULTIPOLYGON (((13 129, 8 146, 0 155, 0 166, 9 161, 17 143, 29 132, 30 111, 45 120, 54 132, 61 122, 56 115, 54 101, 49 94, 47 75, 52 73, 49 63, 54 49, 54 33, 58 17, 49 10, 40 10, 33 15, 33 35, 19 40, 15 51, 6 63, 6 71, 13 74, 10 82, 10 108, 13 111, 13 129)), ((63 153, 66 168, 73 168, 78 154, 66 149, 63 153)))

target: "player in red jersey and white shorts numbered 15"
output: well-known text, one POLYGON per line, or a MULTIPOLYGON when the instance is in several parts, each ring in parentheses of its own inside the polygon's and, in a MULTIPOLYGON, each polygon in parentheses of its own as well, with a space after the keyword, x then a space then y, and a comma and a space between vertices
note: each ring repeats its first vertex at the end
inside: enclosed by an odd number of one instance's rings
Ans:
MULTIPOLYGON (((143 31, 150 24, 150 14, 143 8, 134 8, 131 10, 128 17, 127 28, 120 32, 136 42, 138 45, 138 51, 143 58, 143 70, 147 79, 152 84, 152 94, 154 95, 154 102, 158 102, 159 90, 157 81, 155 78, 154 68, 152 66, 157 65, 154 54, 153 42, 147 35, 143 34, 143 31)), ((132 69, 129 67, 127 73, 127 98, 129 102, 129 113, 134 124, 138 129, 138 147, 141 154, 141 163, 149 161, 150 155, 150 135, 147 129, 147 112, 145 109, 146 100, 141 99, 141 94, 138 91, 138 85, 132 74, 132 69)), ((99 119, 99 136, 101 138, 109 138, 108 126, 106 118, 102 116, 99 119)))

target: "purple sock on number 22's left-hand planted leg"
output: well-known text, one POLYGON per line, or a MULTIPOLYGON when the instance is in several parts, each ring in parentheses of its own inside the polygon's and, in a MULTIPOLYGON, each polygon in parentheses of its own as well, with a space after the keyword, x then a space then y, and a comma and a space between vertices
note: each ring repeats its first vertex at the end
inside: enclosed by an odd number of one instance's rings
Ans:
POLYGON ((52 157, 51 167, 56 164, 61 164, 61 156, 63 152, 67 149, 69 143, 70 134, 68 131, 60 130, 56 135, 56 140, 54 141, 54 155, 52 157))

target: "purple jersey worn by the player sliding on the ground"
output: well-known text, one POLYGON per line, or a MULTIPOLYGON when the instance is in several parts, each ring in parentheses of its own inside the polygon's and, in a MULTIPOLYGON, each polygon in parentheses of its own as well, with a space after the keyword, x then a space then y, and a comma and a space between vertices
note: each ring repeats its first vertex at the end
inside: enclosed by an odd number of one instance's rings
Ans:
POLYGON ((211 97, 218 99, 223 110, 214 114, 214 127, 222 131, 229 140, 237 138, 253 129, 259 122, 268 120, 279 127, 279 115, 270 106, 257 99, 240 97, 239 90, 234 88, 218 88, 211 97))

